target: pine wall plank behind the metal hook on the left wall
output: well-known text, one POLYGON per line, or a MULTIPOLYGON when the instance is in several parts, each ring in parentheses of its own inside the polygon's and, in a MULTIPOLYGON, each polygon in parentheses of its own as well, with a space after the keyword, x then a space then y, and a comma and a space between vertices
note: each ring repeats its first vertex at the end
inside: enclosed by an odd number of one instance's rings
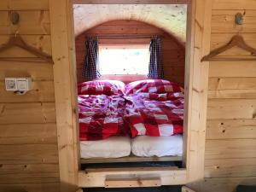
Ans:
POLYGON ((0 11, 0 16, 4 20, 3 25, 0 25, 1 35, 15 34, 17 30, 21 35, 50 34, 49 11, 17 11, 17 13, 20 15, 20 18, 22 18, 19 26, 11 24, 8 11, 0 11))

